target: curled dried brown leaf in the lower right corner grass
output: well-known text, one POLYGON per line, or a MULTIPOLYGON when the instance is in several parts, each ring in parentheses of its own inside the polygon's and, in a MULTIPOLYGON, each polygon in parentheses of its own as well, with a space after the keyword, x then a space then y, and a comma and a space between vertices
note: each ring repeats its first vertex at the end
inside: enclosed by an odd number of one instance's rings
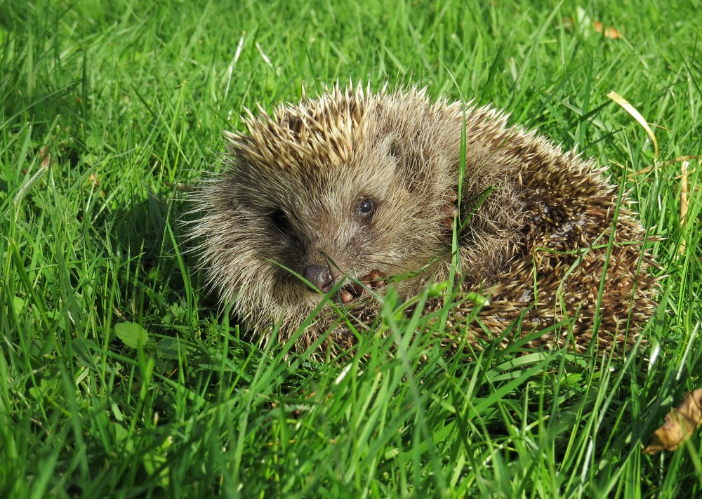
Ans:
POLYGON ((665 415, 665 423, 654 432, 644 452, 655 454, 660 451, 674 451, 700 426, 702 426, 702 388, 688 392, 682 404, 665 415))

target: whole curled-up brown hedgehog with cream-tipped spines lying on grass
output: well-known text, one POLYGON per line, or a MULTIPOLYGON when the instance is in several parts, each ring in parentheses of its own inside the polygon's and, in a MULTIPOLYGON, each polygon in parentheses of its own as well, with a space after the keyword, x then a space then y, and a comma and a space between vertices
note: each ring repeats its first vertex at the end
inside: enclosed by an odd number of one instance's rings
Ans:
POLYGON ((339 86, 249 113, 196 194, 208 284, 262 343, 327 300, 296 346, 329 333, 338 350, 373 320, 372 295, 418 295, 453 262, 461 293, 489 303, 469 321, 457 300, 447 337, 477 344, 519 319, 522 335, 548 331, 529 346, 584 350, 599 322, 601 350, 631 344, 655 308, 642 225, 602 168, 506 121, 416 89, 339 86))

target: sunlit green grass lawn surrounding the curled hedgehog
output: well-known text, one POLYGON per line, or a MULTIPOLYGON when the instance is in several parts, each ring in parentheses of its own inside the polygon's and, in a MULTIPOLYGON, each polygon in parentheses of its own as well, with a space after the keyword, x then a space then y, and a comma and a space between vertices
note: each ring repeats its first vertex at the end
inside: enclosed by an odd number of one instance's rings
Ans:
POLYGON ((0 495, 702 495, 700 434, 641 452, 702 386, 702 167, 681 227, 665 164, 702 154, 702 2, 383 5, 0 1, 0 495), (337 79, 494 102, 614 181, 654 165, 626 182, 669 276, 647 343, 447 356, 389 300, 340 365, 251 345, 201 292, 172 182, 219 168, 244 106, 337 79))

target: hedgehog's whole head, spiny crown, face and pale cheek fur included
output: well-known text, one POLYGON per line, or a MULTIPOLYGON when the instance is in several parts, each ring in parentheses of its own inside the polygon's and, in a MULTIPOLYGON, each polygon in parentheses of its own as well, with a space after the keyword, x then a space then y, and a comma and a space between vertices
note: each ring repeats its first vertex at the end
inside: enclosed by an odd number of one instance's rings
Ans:
MULTIPOLYGON (((378 287, 450 254, 461 109, 336 88, 225 134, 230 160, 201 190, 191 231, 220 299, 255 332, 282 321, 285 337, 319 291, 344 281, 330 299, 347 305, 362 293, 347 277, 378 287)), ((395 288, 408 296, 428 279, 395 288)))

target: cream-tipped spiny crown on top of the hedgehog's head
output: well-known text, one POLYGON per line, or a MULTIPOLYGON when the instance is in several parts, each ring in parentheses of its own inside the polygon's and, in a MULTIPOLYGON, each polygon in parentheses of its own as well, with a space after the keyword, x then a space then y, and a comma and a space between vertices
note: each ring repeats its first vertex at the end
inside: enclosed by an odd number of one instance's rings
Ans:
POLYGON ((439 179, 428 176, 437 161, 450 161, 442 155, 456 130, 427 127, 460 111, 458 105, 429 105, 422 91, 371 94, 337 86, 320 98, 282 105, 272 116, 263 109, 258 118, 249 113, 248 133, 227 133, 227 145, 239 179, 265 185, 262 201, 277 194, 298 209, 326 201, 338 210, 333 201, 343 201, 343 194, 385 195, 399 186, 433 190, 439 179))

